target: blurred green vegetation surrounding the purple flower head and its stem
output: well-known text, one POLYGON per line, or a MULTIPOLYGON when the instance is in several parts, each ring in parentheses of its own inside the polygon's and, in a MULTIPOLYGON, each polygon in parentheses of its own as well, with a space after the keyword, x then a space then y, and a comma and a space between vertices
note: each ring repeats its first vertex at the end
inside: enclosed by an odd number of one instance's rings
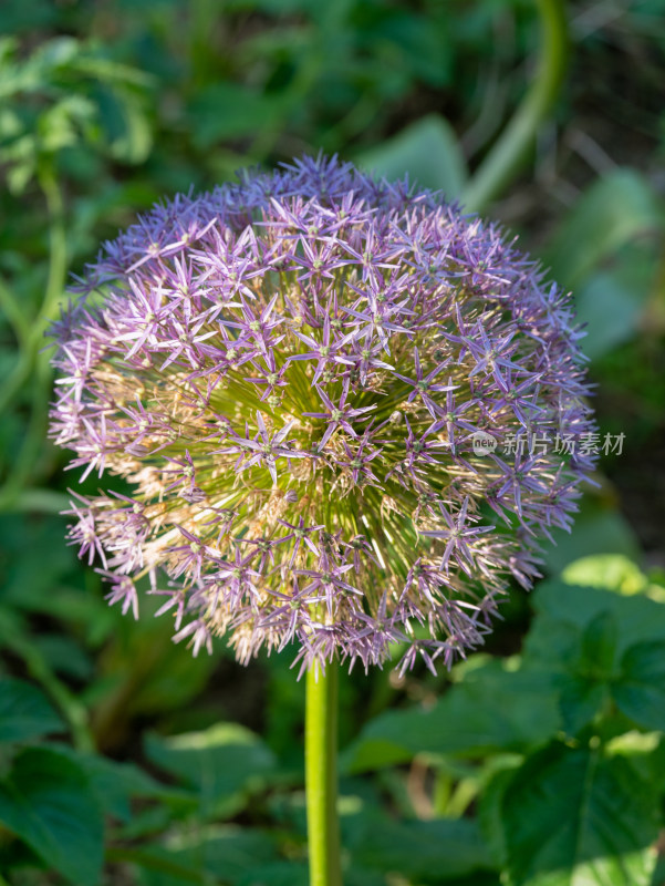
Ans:
POLYGON ((519 233, 574 290, 601 430, 625 433, 482 655, 344 679, 345 882, 665 883, 665 2, 567 6, 562 85, 559 53, 532 150, 482 193, 555 7, 3 0, 1 884, 306 883, 289 656, 193 659, 149 600, 107 608, 63 540, 43 333, 162 195, 320 148, 519 233))

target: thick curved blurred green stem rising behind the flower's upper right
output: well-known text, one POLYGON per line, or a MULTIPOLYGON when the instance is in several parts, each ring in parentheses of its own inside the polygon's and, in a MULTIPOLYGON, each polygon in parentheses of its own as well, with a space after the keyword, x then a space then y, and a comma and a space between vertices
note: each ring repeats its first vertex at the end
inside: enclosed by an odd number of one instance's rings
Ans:
POLYGON ((513 179, 533 146, 538 128, 559 97, 568 63, 564 0, 538 0, 542 49, 531 89, 461 195, 468 212, 482 210, 513 179))

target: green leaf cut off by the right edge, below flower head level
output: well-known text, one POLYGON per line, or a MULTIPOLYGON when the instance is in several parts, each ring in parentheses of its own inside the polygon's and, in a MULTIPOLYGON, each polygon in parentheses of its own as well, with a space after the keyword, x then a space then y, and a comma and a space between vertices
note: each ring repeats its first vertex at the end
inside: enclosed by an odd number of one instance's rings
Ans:
POLYGON ((638 725, 665 730, 665 641, 636 643, 626 651, 612 696, 638 725))

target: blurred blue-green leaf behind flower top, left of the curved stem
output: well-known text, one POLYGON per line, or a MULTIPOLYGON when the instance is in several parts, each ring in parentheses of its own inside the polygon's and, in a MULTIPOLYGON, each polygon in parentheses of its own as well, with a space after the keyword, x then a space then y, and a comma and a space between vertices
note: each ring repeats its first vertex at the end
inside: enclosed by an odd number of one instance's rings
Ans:
POLYGON ((388 179, 407 173, 423 187, 443 190, 448 199, 461 194, 467 169, 449 123, 429 114, 406 126, 377 147, 356 156, 359 165, 388 179))

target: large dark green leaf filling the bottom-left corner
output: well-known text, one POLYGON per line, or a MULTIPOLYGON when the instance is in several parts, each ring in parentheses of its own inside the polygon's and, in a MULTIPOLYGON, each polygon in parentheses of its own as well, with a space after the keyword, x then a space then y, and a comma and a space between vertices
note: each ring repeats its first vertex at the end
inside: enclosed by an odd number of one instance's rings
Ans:
POLYGON ((45 748, 19 754, 0 783, 0 822, 74 886, 98 884, 104 823, 73 760, 45 748))

